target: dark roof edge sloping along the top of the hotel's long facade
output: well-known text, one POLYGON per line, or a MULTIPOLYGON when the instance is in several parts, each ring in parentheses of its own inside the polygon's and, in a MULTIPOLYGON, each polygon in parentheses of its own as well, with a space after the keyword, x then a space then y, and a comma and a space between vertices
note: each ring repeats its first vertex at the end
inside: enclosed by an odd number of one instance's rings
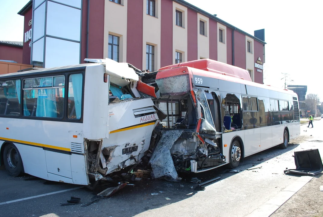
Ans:
POLYGON ((224 20, 221 20, 220 18, 218 18, 218 17, 216 17, 216 16, 214 16, 214 15, 212 15, 212 14, 206 12, 206 11, 203 11, 201 8, 198 8, 198 7, 192 5, 192 4, 190 4, 190 3, 188 3, 188 2, 186 2, 184 0, 173 0, 173 1, 176 2, 176 3, 178 3, 178 4, 180 4, 180 5, 185 6, 187 8, 190 8, 190 9, 192 9, 194 11, 197 11, 198 13, 200 13, 200 14, 202 14, 204 16, 207 16, 207 17, 209 17, 209 18, 217 21, 217 22, 223 24, 224 26, 230 27, 233 30, 237 30, 238 32, 241 32, 241 33, 245 34, 246 36, 249 36, 249 37, 255 39, 256 41, 258 41, 258 42, 260 42, 260 43, 262 43, 264 45, 267 44, 265 41, 260 40, 259 38, 255 37, 253 35, 250 35, 249 33, 246 33, 245 31, 243 31, 243 30, 241 30, 241 29, 239 29, 239 28, 237 28, 237 27, 235 27, 235 26, 233 26, 233 25, 225 22, 224 20))

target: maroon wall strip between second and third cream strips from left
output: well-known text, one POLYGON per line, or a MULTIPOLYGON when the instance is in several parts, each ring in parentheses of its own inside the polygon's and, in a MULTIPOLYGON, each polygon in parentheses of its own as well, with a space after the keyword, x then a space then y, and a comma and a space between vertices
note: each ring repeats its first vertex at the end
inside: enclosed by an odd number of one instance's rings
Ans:
POLYGON ((161 67, 172 65, 173 1, 161 1, 161 67))

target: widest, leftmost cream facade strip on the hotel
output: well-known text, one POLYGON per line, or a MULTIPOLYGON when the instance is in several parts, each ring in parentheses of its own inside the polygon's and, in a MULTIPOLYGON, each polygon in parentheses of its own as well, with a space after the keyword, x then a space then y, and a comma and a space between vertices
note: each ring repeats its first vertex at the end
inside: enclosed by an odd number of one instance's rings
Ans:
POLYGON ((109 34, 119 36, 119 62, 127 62, 127 4, 122 0, 121 5, 111 1, 104 4, 104 40, 103 58, 108 58, 109 34), (117 17, 117 19, 116 19, 117 17), (113 20, 113 22, 110 22, 113 20))

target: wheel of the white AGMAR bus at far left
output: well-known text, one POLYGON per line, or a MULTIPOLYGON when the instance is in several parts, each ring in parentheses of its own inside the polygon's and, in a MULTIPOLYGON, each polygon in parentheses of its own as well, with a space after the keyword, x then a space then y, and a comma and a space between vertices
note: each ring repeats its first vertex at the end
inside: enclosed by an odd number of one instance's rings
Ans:
POLYGON ((5 169, 11 176, 19 176, 23 171, 20 153, 14 144, 7 144, 3 152, 5 169))

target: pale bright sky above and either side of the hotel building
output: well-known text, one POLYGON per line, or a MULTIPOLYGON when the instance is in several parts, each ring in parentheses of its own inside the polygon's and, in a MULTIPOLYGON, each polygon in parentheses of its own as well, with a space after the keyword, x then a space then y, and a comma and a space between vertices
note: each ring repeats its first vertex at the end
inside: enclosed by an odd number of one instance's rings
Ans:
MULTIPOLYGON (((24 17, 17 13, 28 0, 0 1, 0 40, 22 41, 24 17)), ((287 84, 307 85, 307 94, 318 94, 323 101, 323 75, 318 67, 323 59, 323 1, 186 1, 251 35, 265 29, 264 83, 284 88, 282 78, 287 73, 287 84)))

